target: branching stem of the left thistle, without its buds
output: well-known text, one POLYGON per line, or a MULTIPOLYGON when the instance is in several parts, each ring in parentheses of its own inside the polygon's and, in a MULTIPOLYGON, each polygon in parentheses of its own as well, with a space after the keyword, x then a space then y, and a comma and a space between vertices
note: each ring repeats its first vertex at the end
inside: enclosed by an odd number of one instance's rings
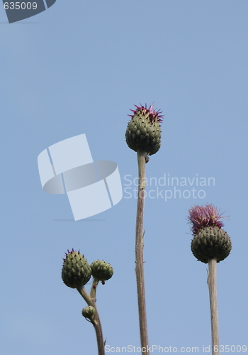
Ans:
MULTIPOLYGON (((77 288, 77 290, 79 291, 80 295, 82 297, 84 297, 84 300, 86 301, 87 305, 94 307, 94 309, 96 310, 96 313, 94 315, 94 322, 91 322, 91 323, 93 324, 95 332, 96 332, 98 355, 105 355, 104 342, 103 342, 103 331, 101 329, 101 321, 100 321, 100 317, 99 317, 99 314, 98 314, 98 310, 96 308, 96 300, 95 300, 95 298, 92 298, 86 292, 84 286, 81 286, 80 288, 77 288)), ((91 288, 91 290, 92 290, 92 288, 91 288)), ((95 288, 94 293, 96 295, 96 288, 95 288)))

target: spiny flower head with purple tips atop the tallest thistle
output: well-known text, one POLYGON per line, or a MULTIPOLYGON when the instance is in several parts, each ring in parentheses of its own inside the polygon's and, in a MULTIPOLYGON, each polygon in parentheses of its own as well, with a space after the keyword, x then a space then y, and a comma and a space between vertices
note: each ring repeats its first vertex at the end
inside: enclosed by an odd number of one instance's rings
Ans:
POLYGON ((152 155, 159 151, 161 146, 162 115, 154 110, 153 106, 149 109, 145 106, 136 106, 133 111, 128 128, 125 132, 125 140, 130 149, 137 152, 144 152, 152 155))

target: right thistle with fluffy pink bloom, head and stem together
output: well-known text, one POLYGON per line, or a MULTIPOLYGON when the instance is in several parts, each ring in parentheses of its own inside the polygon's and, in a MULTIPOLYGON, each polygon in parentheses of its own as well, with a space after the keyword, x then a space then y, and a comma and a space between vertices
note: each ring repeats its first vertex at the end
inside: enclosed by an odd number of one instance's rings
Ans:
POLYGON ((232 249, 231 239, 222 229, 224 218, 212 204, 189 209, 193 239, 191 251, 202 263, 208 263, 208 288, 210 296, 210 316, 212 333, 212 353, 219 355, 219 327, 216 286, 216 263, 227 258, 232 249))

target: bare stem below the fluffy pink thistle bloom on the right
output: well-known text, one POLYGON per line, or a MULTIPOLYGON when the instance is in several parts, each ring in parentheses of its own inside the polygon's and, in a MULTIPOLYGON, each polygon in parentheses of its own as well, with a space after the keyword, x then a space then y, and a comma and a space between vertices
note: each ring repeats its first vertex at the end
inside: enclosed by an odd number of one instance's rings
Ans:
POLYGON ((216 266, 217 266, 217 261, 215 258, 210 259, 208 261, 208 288, 209 288, 209 297, 210 297, 213 355, 219 355, 219 326, 218 326, 218 307, 217 307, 216 266))

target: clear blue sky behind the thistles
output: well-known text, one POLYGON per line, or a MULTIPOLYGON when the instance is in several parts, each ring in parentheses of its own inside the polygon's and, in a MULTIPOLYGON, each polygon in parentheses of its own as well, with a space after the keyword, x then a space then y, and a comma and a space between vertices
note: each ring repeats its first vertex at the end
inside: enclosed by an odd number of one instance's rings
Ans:
POLYGON ((146 167, 155 197, 144 222, 150 345, 203 354, 211 343, 207 265, 191 253, 186 216, 213 203, 230 216, 233 246, 218 264, 220 344, 248 346, 247 11, 247 0, 57 0, 9 24, 0 10, 2 354, 97 354, 86 304, 61 279, 72 248, 114 268, 97 294, 106 344, 140 346, 137 200, 125 190, 135 188, 137 158, 125 129, 129 109, 152 102, 164 120, 146 167), (37 158, 81 133, 94 160, 118 164, 123 200, 74 222, 66 195, 43 192, 37 158), (195 180, 165 201, 174 187, 155 185, 164 174, 195 180))

